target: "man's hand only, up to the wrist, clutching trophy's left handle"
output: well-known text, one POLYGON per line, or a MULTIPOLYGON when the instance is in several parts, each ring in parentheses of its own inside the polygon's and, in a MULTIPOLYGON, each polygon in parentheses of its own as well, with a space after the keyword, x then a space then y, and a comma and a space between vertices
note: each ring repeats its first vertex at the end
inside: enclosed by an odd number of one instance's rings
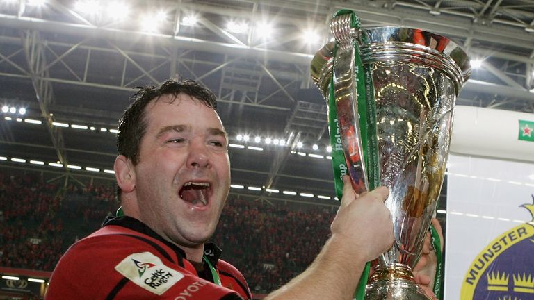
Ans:
POLYGON ((384 201, 386 187, 355 194, 350 178, 343 176, 343 199, 332 222, 332 238, 339 238, 355 256, 371 261, 389 249, 394 241, 393 222, 384 201))

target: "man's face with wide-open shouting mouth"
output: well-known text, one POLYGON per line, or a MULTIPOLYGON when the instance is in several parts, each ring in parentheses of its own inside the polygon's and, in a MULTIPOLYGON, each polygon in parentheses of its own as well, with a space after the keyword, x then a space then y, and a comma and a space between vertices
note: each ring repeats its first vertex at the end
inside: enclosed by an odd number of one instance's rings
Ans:
POLYGON ((186 247, 216 229, 230 185, 227 135, 215 110, 186 94, 145 108, 135 193, 140 220, 186 247))

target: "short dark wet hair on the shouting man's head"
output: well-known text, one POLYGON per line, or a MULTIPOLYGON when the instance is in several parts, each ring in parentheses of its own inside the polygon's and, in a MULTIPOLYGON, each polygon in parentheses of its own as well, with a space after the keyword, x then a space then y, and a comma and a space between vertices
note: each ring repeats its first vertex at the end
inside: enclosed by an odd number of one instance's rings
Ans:
POLYGON ((156 100, 166 94, 174 96, 172 103, 179 94, 186 94, 194 99, 198 99, 209 108, 216 110, 217 100, 215 94, 203 88, 195 81, 186 79, 170 79, 161 83, 161 85, 149 85, 140 88, 136 94, 130 97, 133 101, 124 111, 119 120, 117 133, 117 150, 119 155, 129 158, 133 165, 137 165, 139 160, 139 147, 143 135, 147 129, 147 120, 145 119, 145 108, 148 103, 156 100))

